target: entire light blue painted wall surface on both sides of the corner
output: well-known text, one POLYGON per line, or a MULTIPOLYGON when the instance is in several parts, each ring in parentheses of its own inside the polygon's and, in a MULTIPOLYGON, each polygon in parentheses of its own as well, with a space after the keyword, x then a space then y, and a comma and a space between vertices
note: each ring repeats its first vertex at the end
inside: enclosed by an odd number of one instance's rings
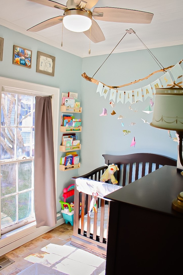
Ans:
MULTIPOLYGON (((9 30, 0 26, 0 37, 4 38, 3 61, 0 62, 0 76, 23 80, 32 83, 38 83, 51 87, 57 87, 62 92, 77 92, 78 99, 82 107, 82 132, 81 132, 81 168, 57 172, 57 212, 60 211, 59 200, 63 199, 63 188, 73 183, 70 179, 73 176, 82 175, 90 170, 104 165, 102 154, 133 154, 137 152, 157 153, 172 158, 177 158, 177 143, 170 139, 168 132, 162 129, 156 129, 149 124, 144 123, 141 118, 152 120, 152 113, 142 112, 150 103, 150 98, 146 101, 132 104, 116 103, 114 110, 116 115, 111 115, 112 107, 109 104, 109 95, 106 99, 96 93, 97 85, 86 81, 81 77, 83 72, 88 76, 93 76, 107 55, 87 58, 79 58, 45 43, 42 43, 28 36, 9 30), (12 64, 13 45, 22 46, 31 49, 32 68, 26 69, 12 64), (37 51, 45 52, 56 57, 55 76, 47 76, 35 72, 37 51), (102 108, 108 110, 107 116, 100 116, 102 108), (134 112, 134 110, 138 110, 134 112), (121 126, 121 120, 118 116, 123 115, 125 127, 121 126), (131 126, 130 123, 136 125, 131 126), (131 131, 129 135, 124 136, 123 130, 131 131), (136 146, 130 147, 135 136, 136 146)), ((92 47, 91 47, 92 50, 92 47)), ((166 48, 157 48, 151 50, 154 56, 164 67, 174 65, 182 59, 183 45, 166 48)), ((152 72, 159 70, 157 63, 152 59, 147 50, 112 54, 100 70, 94 76, 107 85, 124 85, 126 83, 144 78, 152 72)), ((148 80, 128 86, 126 90, 138 89, 153 82, 161 77, 163 73, 151 76, 148 80)), ((124 90, 124 89, 121 89, 124 90)), ((154 100, 155 98, 153 98, 154 100)), ((61 105, 61 97, 60 104, 61 105)), ((152 107, 153 109, 153 107, 152 107)), ((58 161, 64 154, 59 152, 62 134, 58 125, 58 161)), ((171 132, 175 137, 175 132, 171 132)))

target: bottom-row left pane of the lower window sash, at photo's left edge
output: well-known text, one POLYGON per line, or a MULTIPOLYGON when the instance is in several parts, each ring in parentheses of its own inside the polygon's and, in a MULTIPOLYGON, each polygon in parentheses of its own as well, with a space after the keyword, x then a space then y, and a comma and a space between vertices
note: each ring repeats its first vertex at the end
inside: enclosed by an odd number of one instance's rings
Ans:
POLYGON ((1 229, 16 222, 16 195, 1 198, 1 229))

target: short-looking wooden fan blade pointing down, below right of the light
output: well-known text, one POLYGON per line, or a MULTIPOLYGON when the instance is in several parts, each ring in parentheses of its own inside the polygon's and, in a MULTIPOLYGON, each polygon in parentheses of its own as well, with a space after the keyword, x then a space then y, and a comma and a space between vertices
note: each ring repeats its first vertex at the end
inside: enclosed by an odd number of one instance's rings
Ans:
MULTIPOLYGON (((83 32, 83 34, 85 34, 88 38, 90 36, 90 29, 83 32)), ((99 27, 99 25, 97 24, 97 22, 92 19, 92 26, 91 26, 91 40, 94 43, 98 43, 101 41, 106 40, 101 28, 99 27)))

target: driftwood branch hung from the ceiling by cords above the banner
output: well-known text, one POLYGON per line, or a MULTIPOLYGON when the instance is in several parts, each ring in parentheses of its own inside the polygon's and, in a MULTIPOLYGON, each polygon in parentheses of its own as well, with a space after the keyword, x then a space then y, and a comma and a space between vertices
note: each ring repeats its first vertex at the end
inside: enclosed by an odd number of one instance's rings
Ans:
MULTIPOLYGON (((182 61, 183 61, 183 59, 180 60, 179 64, 181 64, 182 61)), ((109 86, 109 85, 106 85, 106 84, 104 84, 103 82, 101 82, 101 81, 99 81, 99 80, 96 80, 95 78, 92 78, 92 77, 90 77, 90 76, 87 76, 87 74, 86 74, 85 72, 84 72, 83 74, 81 74, 81 76, 82 76, 85 80, 88 80, 88 81, 90 81, 90 82, 92 82, 92 83, 94 83, 94 84, 97 84, 97 85, 98 85, 98 83, 100 82, 100 83, 102 83, 104 86, 109 87, 110 89, 117 89, 117 88, 126 87, 126 86, 132 85, 132 84, 134 84, 134 83, 138 83, 138 82, 140 82, 140 81, 142 81, 142 80, 148 79, 148 78, 149 78, 150 76, 152 76, 153 74, 156 74, 157 72, 164 72, 164 71, 166 71, 166 70, 168 70, 168 69, 170 69, 170 68, 172 68, 172 67, 174 67, 174 66, 175 66, 175 65, 171 65, 171 66, 168 66, 167 68, 163 68, 163 69, 157 70, 157 71, 155 71, 155 72, 152 72, 151 74, 149 74, 148 76, 146 76, 146 77, 144 77, 144 78, 141 78, 141 79, 139 79, 139 80, 135 80, 135 81, 133 81, 133 82, 130 82, 130 83, 124 84, 124 85, 120 85, 120 86, 109 86)))

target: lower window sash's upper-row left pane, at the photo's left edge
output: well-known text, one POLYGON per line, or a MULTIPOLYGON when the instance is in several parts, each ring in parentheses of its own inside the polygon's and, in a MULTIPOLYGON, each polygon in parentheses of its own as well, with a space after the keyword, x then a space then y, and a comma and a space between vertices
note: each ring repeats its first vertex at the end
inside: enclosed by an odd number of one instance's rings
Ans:
POLYGON ((1 165, 1 197, 16 192, 16 164, 1 165))

